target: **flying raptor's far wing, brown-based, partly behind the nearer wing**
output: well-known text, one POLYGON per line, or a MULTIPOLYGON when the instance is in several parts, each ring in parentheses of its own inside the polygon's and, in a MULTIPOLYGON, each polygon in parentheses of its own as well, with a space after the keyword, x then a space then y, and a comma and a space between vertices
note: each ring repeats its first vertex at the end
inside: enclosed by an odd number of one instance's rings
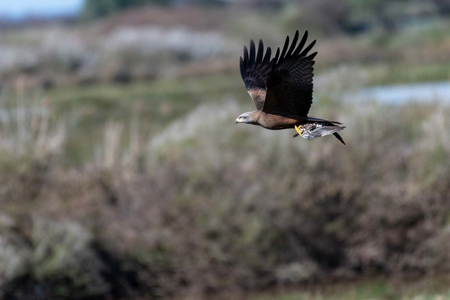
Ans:
POLYGON ((244 58, 240 58, 240 70, 247 92, 252 97, 257 110, 261 110, 266 99, 266 81, 272 70, 273 60, 270 60, 271 50, 267 47, 263 58, 264 44, 259 40, 258 52, 255 43, 250 40, 250 55, 244 46, 244 58))

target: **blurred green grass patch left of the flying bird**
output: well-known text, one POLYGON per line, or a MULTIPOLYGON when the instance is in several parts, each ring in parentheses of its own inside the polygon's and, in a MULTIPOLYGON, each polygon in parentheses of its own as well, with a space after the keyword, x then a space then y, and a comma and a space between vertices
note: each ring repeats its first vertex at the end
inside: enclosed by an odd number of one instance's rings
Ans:
MULTIPOLYGON (((132 118, 139 119, 139 134, 145 138, 183 117, 198 104, 221 100, 227 95, 242 102, 249 100, 238 73, 127 85, 61 87, 43 96, 49 100, 55 117, 68 120, 65 164, 82 165, 92 160, 92 145, 99 141, 105 123, 110 120, 125 124, 122 139, 126 143, 132 118)), ((251 102, 247 104, 250 106, 251 102)))

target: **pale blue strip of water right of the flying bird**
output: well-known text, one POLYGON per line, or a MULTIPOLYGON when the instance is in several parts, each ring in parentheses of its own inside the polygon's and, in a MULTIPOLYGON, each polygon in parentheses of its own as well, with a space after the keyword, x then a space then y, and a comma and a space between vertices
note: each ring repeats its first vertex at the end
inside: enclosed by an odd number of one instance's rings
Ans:
POLYGON ((344 95, 345 101, 373 100, 387 104, 402 104, 409 101, 450 103, 450 82, 428 82, 373 86, 344 95))

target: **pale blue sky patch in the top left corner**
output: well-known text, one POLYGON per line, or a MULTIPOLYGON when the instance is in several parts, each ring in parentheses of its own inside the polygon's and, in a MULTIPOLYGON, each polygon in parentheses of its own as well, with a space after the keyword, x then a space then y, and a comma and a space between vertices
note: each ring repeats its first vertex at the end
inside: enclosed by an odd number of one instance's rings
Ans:
POLYGON ((29 14, 54 16, 75 14, 84 0, 0 0, 0 16, 22 18, 29 14))

